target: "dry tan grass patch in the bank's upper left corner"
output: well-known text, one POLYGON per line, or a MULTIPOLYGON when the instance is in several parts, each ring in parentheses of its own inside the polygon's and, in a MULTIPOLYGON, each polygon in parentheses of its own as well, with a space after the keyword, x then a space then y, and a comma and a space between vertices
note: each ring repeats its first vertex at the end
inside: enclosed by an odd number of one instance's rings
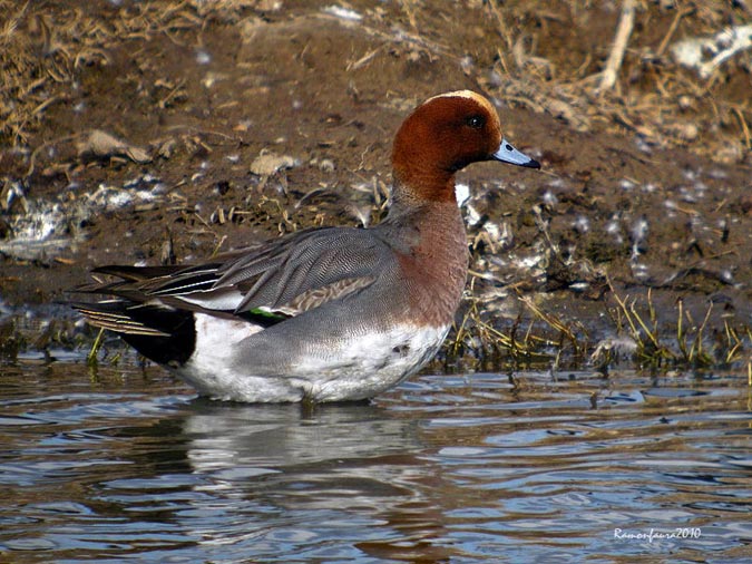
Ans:
POLYGON ((0 145, 26 149, 45 119, 45 109, 68 99, 68 90, 89 65, 110 62, 115 43, 172 37, 197 28, 185 2, 133 2, 96 16, 76 2, 50 11, 42 2, 0 0, 8 18, 0 27, 0 145), (111 16, 111 17, 108 17, 111 16))

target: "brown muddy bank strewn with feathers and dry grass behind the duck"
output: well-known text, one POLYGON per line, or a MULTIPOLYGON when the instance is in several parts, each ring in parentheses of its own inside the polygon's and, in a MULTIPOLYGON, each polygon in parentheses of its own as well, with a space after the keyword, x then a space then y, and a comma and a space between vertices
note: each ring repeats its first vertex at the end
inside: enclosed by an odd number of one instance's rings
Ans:
POLYGON ((590 2, 0 0, 0 237, 47 202, 72 242, 4 246, 2 300, 60 299, 96 264, 378 221, 400 121, 472 88, 544 165, 459 177, 492 324, 515 315, 497 298, 516 288, 597 333, 606 276, 622 294, 654 289, 658 308, 682 298, 697 319, 710 299, 719 323, 749 324, 750 50, 709 78, 668 55, 750 21, 745 6, 639 4, 617 82, 597 94, 619 12, 590 2))

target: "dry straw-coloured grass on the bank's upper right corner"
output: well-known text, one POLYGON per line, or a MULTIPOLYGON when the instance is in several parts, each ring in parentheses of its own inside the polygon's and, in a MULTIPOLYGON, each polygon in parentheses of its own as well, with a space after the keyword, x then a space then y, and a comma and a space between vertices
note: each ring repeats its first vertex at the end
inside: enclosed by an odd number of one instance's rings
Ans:
MULTIPOLYGON (((625 11, 633 3, 625 0, 625 11)), ((592 10, 586 2, 568 2, 567 21, 541 2, 489 6, 502 45, 499 78, 486 87, 500 98, 551 114, 579 130, 605 127, 650 146, 686 146, 725 163, 749 158, 752 50, 735 55, 707 78, 681 67, 670 54, 677 39, 710 37, 739 18, 749 20, 741 8, 734 13, 721 1, 637 2, 632 17, 638 32, 625 36, 618 33, 622 26, 614 26, 577 60, 575 45, 560 46, 558 50, 569 55, 561 57, 549 38, 557 23, 569 22, 578 33, 590 36, 595 28, 588 25, 592 10), (624 52, 615 56, 619 47, 624 52)))

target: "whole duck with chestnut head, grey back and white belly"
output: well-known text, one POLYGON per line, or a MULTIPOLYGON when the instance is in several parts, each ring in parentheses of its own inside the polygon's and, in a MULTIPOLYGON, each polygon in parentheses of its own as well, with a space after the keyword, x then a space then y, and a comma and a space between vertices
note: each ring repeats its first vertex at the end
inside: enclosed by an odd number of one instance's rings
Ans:
POLYGON ((392 149, 387 218, 322 227, 193 266, 104 266, 119 281, 75 303, 92 325, 215 399, 342 401, 373 397, 439 350, 468 272, 455 173, 480 161, 539 168, 501 136, 482 96, 434 96, 392 149))

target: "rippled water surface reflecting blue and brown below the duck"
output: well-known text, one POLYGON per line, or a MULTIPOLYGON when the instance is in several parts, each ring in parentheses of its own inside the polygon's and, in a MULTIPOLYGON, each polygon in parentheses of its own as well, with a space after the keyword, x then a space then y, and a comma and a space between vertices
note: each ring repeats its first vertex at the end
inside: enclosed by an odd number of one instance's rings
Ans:
POLYGON ((752 558, 741 373, 424 375, 305 408, 0 370, 2 562, 752 558))

